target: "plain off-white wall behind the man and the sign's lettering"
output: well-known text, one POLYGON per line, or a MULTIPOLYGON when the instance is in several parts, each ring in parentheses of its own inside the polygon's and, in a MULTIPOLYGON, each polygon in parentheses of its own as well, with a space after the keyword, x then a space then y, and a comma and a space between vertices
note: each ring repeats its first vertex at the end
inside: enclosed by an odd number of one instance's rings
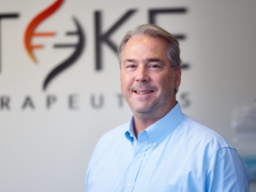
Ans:
POLYGON ((38 60, 34 64, 23 43, 24 33, 29 22, 53 2, 0 0, 0 14, 19 15, 0 20, 0 97, 10 99, 9 110, 0 108, 0 192, 84 191, 87 164, 97 141, 130 118, 128 105, 117 96, 119 65, 107 44, 102 49, 103 68, 95 70, 96 11, 102 13, 106 32, 128 10, 137 10, 111 35, 118 45, 126 31, 148 23, 150 9, 185 8, 186 13, 156 17, 156 23, 169 32, 186 35, 180 41, 181 58, 190 67, 183 70, 177 99, 184 105, 181 96, 186 94, 190 105, 183 112, 232 142, 233 110, 256 107, 256 1, 66 0, 36 28, 56 35, 32 39, 33 44, 45 45, 33 51, 38 60), (73 16, 84 31, 85 47, 74 64, 42 90, 47 74, 75 50, 52 47, 78 42, 77 36, 65 35, 76 29, 73 16), (75 110, 68 107, 72 94, 75 110), (50 95, 57 100, 47 109, 50 95), (98 103, 100 95, 104 103, 95 109, 91 96, 98 103), (34 109, 31 105, 22 109, 27 96, 34 109))

